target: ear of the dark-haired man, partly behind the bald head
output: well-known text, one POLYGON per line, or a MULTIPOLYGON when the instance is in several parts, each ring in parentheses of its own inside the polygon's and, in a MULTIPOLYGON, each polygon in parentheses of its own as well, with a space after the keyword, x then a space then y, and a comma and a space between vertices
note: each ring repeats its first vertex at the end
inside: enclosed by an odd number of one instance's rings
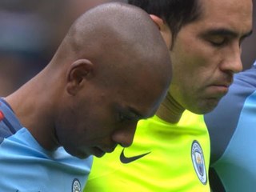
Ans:
POLYGON ((150 18, 153 20, 153 22, 158 26, 158 29, 160 30, 160 33, 162 34, 162 38, 166 42, 166 46, 170 49, 171 43, 172 43, 172 33, 170 30, 170 27, 162 20, 162 18, 159 18, 158 16, 154 14, 150 14, 150 18))

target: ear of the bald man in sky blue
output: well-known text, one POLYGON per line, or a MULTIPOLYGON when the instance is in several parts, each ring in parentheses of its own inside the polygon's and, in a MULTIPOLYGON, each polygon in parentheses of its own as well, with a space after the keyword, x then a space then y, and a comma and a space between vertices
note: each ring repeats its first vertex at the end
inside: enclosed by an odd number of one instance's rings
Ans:
POLYGON ((83 86, 83 82, 94 77, 94 64, 87 59, 73 62, 66 73, 66 90, 69 94, 76 94, 83 86))

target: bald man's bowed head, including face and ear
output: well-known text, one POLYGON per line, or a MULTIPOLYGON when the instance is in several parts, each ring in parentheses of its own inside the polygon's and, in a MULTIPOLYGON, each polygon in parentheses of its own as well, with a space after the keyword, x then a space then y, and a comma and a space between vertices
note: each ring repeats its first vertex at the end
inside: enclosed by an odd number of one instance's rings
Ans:
POLYGON ((138 120, 165 98, 171 69, 150 16, 106 3, 74 22, 34 86, 49 89, 55 142, 79 158, 100 157, 117 144, 130 146, 138 120))

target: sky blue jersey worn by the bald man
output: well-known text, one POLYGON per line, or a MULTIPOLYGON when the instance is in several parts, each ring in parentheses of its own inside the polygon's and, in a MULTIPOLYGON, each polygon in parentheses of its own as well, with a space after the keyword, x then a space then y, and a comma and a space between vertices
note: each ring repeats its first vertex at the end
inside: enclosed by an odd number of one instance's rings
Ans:
POLYGON ((59 147, 42 148, 0 99, 0 190, 8 192, 80 192, 92 157, 79 159, 59 147))

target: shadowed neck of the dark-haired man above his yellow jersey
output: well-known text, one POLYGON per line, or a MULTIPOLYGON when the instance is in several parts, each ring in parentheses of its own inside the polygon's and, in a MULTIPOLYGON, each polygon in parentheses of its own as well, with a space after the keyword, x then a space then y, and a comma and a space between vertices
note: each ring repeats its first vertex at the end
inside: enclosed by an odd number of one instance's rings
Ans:
POLYGON ((168 93, 158 108, 156 115, 170 123, 179 122, 184 108, 168 93))

